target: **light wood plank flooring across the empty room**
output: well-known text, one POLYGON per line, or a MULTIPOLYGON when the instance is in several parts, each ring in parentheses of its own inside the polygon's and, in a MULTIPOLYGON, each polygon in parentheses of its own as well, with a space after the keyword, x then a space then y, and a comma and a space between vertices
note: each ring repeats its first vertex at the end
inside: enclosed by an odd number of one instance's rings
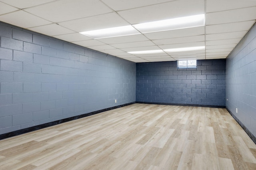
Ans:
POLYGON ((226 109, 132 104, 0 141, 0 170, 256 170, 226 109))

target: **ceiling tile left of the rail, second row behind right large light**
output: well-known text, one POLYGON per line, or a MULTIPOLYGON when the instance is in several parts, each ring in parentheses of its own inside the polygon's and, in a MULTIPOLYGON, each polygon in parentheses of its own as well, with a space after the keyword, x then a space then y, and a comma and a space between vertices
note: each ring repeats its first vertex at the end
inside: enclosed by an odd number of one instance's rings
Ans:
POLYGON ((152 40, 156 45, 166 45, 166 44, 177 44, 177 43, 191 43, 204 41, 204 35, 197 35, 191 37, 179 37, 170 39, 157 39, 152 40))

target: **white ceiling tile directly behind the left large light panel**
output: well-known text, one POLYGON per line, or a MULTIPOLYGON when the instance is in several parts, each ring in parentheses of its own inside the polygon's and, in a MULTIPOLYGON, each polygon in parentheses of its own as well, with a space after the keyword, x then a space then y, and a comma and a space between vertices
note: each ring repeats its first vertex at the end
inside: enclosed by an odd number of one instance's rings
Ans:
POLYGON ((98 39, 99 41, 106 44, 118 44, 118 43, 130 43, 130 42, 138 42, 138 41, 148 41, 148 39, 142 35, 127 35, 122 37, 112 37, 112 38, 102 38, 98 39))

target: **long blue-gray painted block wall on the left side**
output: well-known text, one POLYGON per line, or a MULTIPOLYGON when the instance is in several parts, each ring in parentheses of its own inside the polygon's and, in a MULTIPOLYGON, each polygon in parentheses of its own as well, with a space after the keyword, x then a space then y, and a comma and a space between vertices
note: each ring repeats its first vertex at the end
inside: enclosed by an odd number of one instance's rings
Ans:
POLYGON ((0 22, 0 134, 135 100, 135 63, 0 22))

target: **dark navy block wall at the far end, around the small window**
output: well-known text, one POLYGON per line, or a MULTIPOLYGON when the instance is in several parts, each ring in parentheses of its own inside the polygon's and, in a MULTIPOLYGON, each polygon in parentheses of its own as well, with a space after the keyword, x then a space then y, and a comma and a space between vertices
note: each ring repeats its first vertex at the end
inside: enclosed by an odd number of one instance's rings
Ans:
POLYGON ((197 68, 136 63, 136 101, 225 106, 225 74, 226 59, 198 60, 197 68))

